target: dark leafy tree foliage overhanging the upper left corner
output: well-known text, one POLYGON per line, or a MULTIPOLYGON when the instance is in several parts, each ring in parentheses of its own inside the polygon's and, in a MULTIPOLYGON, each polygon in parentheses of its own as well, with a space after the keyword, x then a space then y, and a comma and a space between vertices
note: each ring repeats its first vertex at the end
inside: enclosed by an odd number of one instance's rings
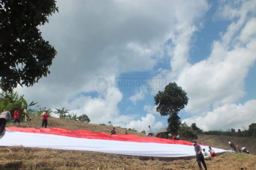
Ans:
POLYGON ((0 87, 9 92, 17 84, 32 86, 50 73, 57 54, 39 26, 58 12, 54 0, 0 1, 0 87))

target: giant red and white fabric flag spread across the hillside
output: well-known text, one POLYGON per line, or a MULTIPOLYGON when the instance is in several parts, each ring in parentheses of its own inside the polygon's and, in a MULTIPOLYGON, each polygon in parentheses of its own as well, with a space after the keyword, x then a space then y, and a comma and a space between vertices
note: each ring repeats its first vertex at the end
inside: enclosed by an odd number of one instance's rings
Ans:
MULTIPOLYGON (((0 146, 23 146, 66 150, 95 151, 124 155, 184 157, 194 156, 191 142, 132 134, 109 135, 85 130, 70 131, 62 128, 6 128, 0 146)), ((208 146, 201 145, 208 150, 208 146)), ((213 148, 215 153, 226 150, 213 148)))

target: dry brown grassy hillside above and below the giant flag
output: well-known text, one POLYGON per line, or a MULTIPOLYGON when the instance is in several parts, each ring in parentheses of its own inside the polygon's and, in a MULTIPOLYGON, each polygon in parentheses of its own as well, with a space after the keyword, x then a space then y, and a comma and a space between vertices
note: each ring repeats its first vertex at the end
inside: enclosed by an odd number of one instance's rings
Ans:
MULTIPOLYGON (((7 126, 13 126, 9 123, 7 126)), ((23 127, 40 128, 41 118, 22 123, 23 127)), ((49 118, 48 128, 89 130, 110 133, 111 126, 49 118)), ((117 133, 125 133, 116 127, 117 133)), ((130 134, 144 134, 128 131, 130 134)), ((198 142, 216 148, 230 149, 228 141, 244 145, 255 154, 255 139, 229 136, 199 135, 198 142)), ((1 142, 1 140, 0 140, 1 142)), ((206 161, 208 169, 256 169, 254 154, 233 154, 226 152, 213 160, 206 161)), ((89 151, 57 150, 24 147, 0 147, 0 169, 198 169, 192 166, 195 157, 161 158, 107 154, 89 151)))

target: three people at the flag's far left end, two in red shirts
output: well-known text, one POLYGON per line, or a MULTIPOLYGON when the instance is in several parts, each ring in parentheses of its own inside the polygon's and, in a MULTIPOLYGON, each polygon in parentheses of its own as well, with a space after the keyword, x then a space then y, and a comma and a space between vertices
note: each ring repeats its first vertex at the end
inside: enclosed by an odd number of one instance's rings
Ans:
MULTIPOLYGON (((48 111, 44 111, 42 118, 42 128, 46 128, 47 127, 47 121, 48 121, 48 111)), ((13 113, 13 119, 14 119, 14 125, 16 126, 16 123, 18 122, 19 126, 20 126, 20 117, 19 117, 19 108, 16 108, 16 110, 13 113)), ((0 134, 3 133, 5 126, 6 126, 6 122, 7 120, 9 120, 11 122, 12 117, 11 117, 11 113, 9 111, 5 111, 5 109, 3 110, 3 112, 0 114, 0 134)))

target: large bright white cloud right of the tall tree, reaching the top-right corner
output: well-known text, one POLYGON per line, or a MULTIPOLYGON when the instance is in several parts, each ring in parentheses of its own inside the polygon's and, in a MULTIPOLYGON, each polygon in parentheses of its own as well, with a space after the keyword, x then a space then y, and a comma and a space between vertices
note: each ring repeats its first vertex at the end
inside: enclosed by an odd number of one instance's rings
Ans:
MULTIPOLYGON (((250 3, 251 6, 255 5, 253 1, 250 3)), ((256 38, 252 27, 254 19, 248 20, 249 16, 246 17, 246 14, 253 12, 252 8, 244 6, 248 6, 247 2, 236 9, 236 16, 240 18, 230 24, 221 41, 213 42, 212 52, 207 59, 194 65, 187 64, 176 75, 162 70, 162 75, 187 92, 189 102, 185 107, 186 112, 203 115, 211 107, 236 102, 245 95, 244 80, 256 60, 256 38), (245 35, 250 37, 250 41, 245 41, 245 35), (242 44, 239 37, 245 38, 242 44)))

